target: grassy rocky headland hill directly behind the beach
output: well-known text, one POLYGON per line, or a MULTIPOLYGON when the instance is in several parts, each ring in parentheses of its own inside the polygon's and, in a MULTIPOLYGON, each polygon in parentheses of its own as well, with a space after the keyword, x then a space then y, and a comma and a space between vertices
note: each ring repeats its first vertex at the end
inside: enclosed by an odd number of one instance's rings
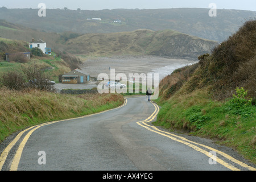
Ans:
POLYGON ((136 30, 109 34, 85 34, 67 41, 67 50, 86 56, 155 55, 196 59, 217 42, 173 30, 136 30))

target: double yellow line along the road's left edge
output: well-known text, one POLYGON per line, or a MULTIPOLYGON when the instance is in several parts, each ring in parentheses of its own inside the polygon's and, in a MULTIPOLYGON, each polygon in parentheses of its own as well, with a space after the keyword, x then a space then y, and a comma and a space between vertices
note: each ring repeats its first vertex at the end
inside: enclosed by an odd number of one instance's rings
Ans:
MULTIPOLYGON (((124 98, 123 105, 121 105, 119 107, 116 107, 114 109, 121 108, 121 107, 125 106, 126 104, 127 104, 127 99, 124 98)), ((110 109, 110 110, 114 110, 114 109, 110 109)), ((41 125, 32 126, 32 127, 28 128, 26 130, 21 131, 18 135, 16 135, 14 140, 5 148, 5 150, 3 150, 2 154, 0 155, 0 171, 2 170, 2 167, 5 164, 5 161, 7 159, 7 156, 9 155, 9 152, 11 151, 11 148, 13 148, 13 146, 18 142, 18 140, 22 137, 22 135, 24 133, 26 133, 27 131, 28 131, 28 133, 25 135, 22 142, 19 144, 18 150, 16 150, 13 161, 11 162, 10 171, 16 171, 18 169, 19 161, 20 161, 20 157, 22 155, 23 148, 24 148, 25 144, 27 143, 27 140, 30 138, 30 135, 35 130, 39 129, 42 126, 52 125, 53 123, 62 122, 62 121, 69 121, 69 120, 72 120, 72 119, 80 119, 80 118, 90 117, 92 115, 105 113, 106 111, 110 111, 110 110, 105 110, 105 111, 102 111, 100 113, 89 114, 89 115, 85 115, 85 116, 78 117, 78 118, 71 118, 71 119, 64 119, 64 120, 60 120, 60 121, 53 121, 53 122, 43 123, 41 125)))

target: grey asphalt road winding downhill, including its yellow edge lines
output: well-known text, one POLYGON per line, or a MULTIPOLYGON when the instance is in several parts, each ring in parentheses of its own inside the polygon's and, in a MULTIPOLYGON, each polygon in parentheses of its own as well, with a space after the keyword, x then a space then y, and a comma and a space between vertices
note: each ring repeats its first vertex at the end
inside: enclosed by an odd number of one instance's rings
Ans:
POLYGON ((255 170, 236 152, 212 140, 152 126, 158 110, 146 97, 131 97, 117 109, 32 127, 3 142, 0 169, 255 170))

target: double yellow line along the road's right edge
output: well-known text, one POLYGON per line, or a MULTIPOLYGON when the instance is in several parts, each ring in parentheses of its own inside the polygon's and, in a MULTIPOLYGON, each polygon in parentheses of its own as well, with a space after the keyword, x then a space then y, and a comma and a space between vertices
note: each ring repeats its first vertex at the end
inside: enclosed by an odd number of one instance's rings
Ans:
MULTIPOLYGON (((214 151, 214 152, 216 152, 216 154, 219 154, 219 155, 223 156, 224 158, 230 160, 230 161, 233 162, 233 163, 236 163, 236 164, 240 165, 240 166, 243 167, 243 168, 249 169, 249 170, 251 170, 251 171, 256 171, 256 168, 250 167, 250 166, 248 166, 247 164, 242 163, 242 162, 240 162, 239 160, 232 158, 232 156, 230 156, 230 155, 228 155, 228 154, 225 154, 224 152, 218 151, 218 150, 216 150, 216 149, 214 149, 214 148, 212 148, 212 147, 209 147, 209 146, 205 146, 204 144, 200 144, 200 143, 193 142, 193 141, 188 140, 188 139, 186 139, 186 138, 184 138, 184 137, 180 137, 180 136, 177 136, 177 135, 175 135, 175 134, 171 134, 171 133, 168 133, 168 132, 166 132, 166 131, 159 130, 159 129, 156 128, 155 126, 148 125, 148 122, 153 121, 153 120, 155 119, 156 115, 158 115, 158 112, 159 112, 159 107, 158 107, 158 105, 156 105, 156 104, 153 103, 153 102, 151 102, 151 103, 152 103, 152 104, 154 105, 154 107, 155 107, 154 113, 151 114, 150 117, 148 117, 148 118, 145 119, 144 121, 139 121, 139 122, 137 122, 138 125, 144 127, 144 128, 147 129, 147 130, 150 130, 150 131, 152 131, 152 132, 154 132, 154 133, 158 133, 158 134, 160 134, 160 135, 163 135, 164 137, 168 137, 168 138, 170 138, 170 139, 172 139, 172 140, 175 140, 176 142, 180 142, 180 143, 183 143, 183 144, 185 144, 185 145, 187 145, 187 146, 189 146, 189 147, 192 147, 194 150, 199 151, 199 152, 201 152, 201 153, 207 155, 209 158, 212 157, 212 155, 209 153, 209 151, 214 151), (204 150, 203 148, 200 148, 200 147, 198 147, 198 146, 207 148, 209 151, 206 151, 206 150, 204 150)), ((225 166, 226 168, 228 168, 228 169, 230 169, 230 170, 232 170, 232 171, 240 171, 240 169, 238 169, 238 168, 232 166, 231 164, 225 162, 224 160, 222 160, 222 159, 220 159, 220 158, 217 158, 217 156, 216 156, 216 162, 219 163, 219 164, 221 164, 222 166, 225 166)))

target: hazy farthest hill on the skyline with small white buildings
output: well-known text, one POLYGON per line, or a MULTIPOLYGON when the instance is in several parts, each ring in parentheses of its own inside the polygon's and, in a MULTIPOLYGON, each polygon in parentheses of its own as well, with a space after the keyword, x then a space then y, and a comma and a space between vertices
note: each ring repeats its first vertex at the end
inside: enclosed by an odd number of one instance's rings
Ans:
POLYGON ((46 32, 73 31, 76 33, 110 33, 138 29, 175 30, 204 39, 222 42, 241 27, 245 19, 256 12, 217 10, 217 17, 209 17, 209 9, 114 9, 60 10, 47 9, 46 17, 38 16, 38 9, 0 8, 0 17, 7 22, 22 24, 46 32), (92 18, 101 18, 93 20, 92 18), (114 20, 121 22, 114 22, 114 20))

